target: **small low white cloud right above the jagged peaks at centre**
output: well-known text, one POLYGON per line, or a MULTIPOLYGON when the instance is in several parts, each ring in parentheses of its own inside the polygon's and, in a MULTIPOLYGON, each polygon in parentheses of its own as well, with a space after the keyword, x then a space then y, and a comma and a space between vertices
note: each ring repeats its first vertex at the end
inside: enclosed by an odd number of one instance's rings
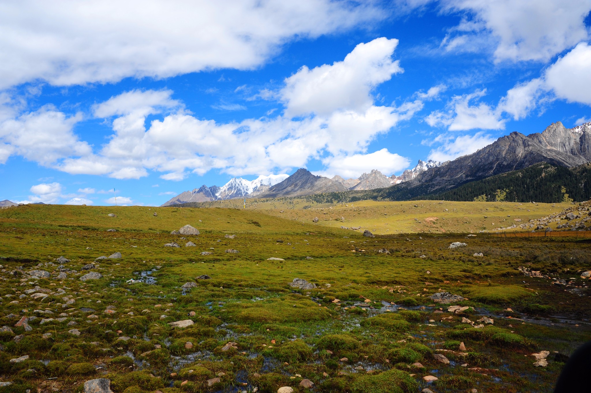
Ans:
POLYGON ((363 172, 370 172, 372 169, 377 169, 389 176, 391 173, 407 168, 410 159, 390 153, 384 148, 368 154, 329 157, 322 162, 326 165, 326 170, 321 171, 325 176, 340 175, 345 178, 357 178, 363 172))

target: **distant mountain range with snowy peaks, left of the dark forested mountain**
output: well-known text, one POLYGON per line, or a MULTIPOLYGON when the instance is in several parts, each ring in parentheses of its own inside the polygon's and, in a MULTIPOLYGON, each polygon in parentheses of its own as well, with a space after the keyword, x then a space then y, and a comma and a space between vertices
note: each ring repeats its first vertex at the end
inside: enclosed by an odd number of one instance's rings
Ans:
POLYGON ((206 186, 184 191, 174 196, 162 206, 184 204, 189 202, 217 201, 233 198, 279 198, 281 196, 302 196, 322 192, 341 192, 348 190, 368 190, 389 187, 393 184, 409 181, 426 171, 443 165, 437 161, 421 161, 413 169, 407 169, 400 176, 386 176, 376 169, 363 173, 357 179, 343 179, 334 176, 332 179, 315 176, 306 169, 298 169, 293 175, 259 176, 248 181, 243 178, 232 178, 223 186, 206 186))

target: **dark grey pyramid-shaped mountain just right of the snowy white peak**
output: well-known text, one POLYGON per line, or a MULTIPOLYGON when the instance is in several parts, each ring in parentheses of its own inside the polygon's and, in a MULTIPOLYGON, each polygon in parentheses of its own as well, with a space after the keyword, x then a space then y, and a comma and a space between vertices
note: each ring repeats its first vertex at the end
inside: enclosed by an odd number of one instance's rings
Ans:
POLYGON ((257 198, 280 198, 339 191, 348 191, 348 189, 329 178, 314 176, 310 171, 300 168, 281 183, 269 188, 269 191, 258 195, 257 198))

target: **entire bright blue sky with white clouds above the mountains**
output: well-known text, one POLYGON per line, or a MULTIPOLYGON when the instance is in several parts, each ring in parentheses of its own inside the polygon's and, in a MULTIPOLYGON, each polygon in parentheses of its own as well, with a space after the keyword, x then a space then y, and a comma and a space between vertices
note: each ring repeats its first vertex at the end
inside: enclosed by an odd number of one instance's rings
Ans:
POLYGON ((591 121, 591 0, 0 5, 0 199, 160 205, 591 121))

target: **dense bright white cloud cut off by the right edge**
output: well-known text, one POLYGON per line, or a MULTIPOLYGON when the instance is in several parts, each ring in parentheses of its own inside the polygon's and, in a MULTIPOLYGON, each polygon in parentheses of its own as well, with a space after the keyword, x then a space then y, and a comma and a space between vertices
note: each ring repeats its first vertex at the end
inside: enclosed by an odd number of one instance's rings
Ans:
POLYGON ((546 70, 545 81, 556 96, 591 105, 591 45, 581 42, 546 70))

